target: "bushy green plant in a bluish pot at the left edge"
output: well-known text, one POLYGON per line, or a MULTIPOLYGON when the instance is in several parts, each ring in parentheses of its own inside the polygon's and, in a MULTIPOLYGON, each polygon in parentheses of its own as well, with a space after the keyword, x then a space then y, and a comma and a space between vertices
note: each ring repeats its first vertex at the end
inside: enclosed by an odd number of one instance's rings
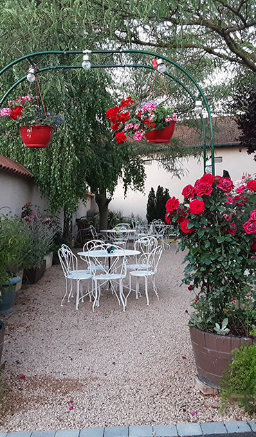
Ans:
POLYGON ((17 273, 24 268, 28 237, 19 217, 1 215, 0 219, 0 314, 11 311, 15 299, 17 273))

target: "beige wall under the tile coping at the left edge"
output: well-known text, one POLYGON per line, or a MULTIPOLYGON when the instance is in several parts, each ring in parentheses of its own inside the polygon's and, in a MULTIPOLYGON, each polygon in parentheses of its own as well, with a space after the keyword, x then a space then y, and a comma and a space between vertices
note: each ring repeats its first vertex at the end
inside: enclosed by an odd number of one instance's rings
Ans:
POLYGON ((21 215, 21 208, 28 202, 39 206, 41 211, 47 209, 46 198, 41 197, 40 190, 33 179, 0 169, 0 212, 21 215))

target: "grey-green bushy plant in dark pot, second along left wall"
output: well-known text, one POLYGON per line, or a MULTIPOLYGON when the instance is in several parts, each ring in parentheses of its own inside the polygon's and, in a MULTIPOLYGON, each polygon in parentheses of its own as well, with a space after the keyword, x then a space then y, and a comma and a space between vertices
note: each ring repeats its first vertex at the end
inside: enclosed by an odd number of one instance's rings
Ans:
POLYGON ((51 217, 34 213, 30 203, 22 208, 21 220, 28 235, 24 277, 35 284, 44 275, 44 257, 53 251, 58 226, 51 217))

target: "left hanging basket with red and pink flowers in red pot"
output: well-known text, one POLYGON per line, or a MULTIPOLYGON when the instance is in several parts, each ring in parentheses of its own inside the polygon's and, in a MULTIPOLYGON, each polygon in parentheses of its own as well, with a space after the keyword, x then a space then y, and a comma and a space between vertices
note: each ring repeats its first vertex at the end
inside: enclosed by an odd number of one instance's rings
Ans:
MULTIPOLYGON (((44 108, 44 105, 42 105, 44 108)), ((6 127, 12 128, 15 123, 19 128, 22 141, 26 147, 47 147, 51 140, 53 127, 63 123, 64 119, 56 114, 42 111, 37 98, 27 95, 19 96, 8 102, 8 108, 2 108, 0 119, 6 127)))

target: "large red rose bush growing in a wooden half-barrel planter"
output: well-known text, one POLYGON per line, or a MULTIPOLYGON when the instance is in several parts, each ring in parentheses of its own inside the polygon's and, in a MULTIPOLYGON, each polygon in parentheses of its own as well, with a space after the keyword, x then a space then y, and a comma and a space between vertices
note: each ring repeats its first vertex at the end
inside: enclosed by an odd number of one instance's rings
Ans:
POLYGON ((165 219, 185 255, 183 283, 194 291, 190 336, 198 376, 219 388, 232 350, 250 343, 256 316, 256 180, 233 184, 205 174, 172 197, 165 219))

